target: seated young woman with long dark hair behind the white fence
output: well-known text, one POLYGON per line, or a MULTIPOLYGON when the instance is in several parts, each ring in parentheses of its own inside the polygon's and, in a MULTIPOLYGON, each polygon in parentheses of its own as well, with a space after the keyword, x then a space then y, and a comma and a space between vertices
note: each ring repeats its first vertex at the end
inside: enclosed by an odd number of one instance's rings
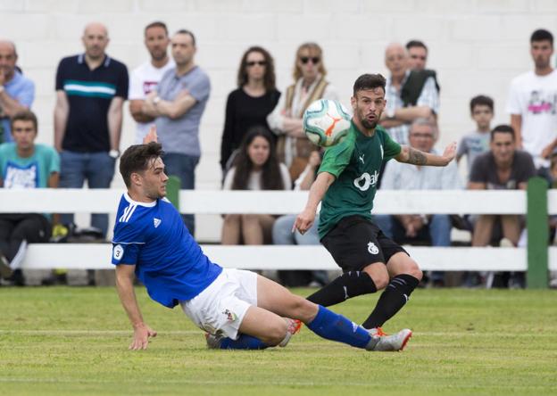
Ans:
MULTIPOLYGON (((244 137, 234 166, 224 179, 223 190, 289 190, 287 167, 278 162, 272 136, 263 127, 251 128, 244 137)), ((227 214, 222 226, 222 244, 271 242, 275 216, 271 214, 227 214)))

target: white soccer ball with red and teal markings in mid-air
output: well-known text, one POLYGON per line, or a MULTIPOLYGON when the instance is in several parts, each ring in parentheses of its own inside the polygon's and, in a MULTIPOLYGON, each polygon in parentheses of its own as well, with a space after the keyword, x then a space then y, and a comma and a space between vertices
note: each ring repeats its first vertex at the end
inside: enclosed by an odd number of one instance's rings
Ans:
POLYGON ((328 147, 348 134, 350 119, 350 113, 342 103, 320 99, 303 112, 303 132, 312 143, 328 147))

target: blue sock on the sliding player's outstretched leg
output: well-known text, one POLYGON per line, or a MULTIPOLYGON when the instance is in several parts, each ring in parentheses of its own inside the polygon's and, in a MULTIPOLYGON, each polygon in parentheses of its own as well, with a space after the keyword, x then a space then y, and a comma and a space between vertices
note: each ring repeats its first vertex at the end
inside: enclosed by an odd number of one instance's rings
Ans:
POLYGON ((328 340, 344 342, 356 348, 365 348, 371 336, 362 327, 342 315, 319 306, 317 316, 306 324, 313 333, 328 340))

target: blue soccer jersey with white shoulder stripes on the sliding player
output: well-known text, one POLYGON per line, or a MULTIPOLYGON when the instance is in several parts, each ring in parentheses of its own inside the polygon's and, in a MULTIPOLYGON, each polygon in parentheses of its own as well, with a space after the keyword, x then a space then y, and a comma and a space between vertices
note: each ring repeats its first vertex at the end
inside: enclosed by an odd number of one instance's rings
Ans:
POLYGON ((112 264, 135 264, 147 293, 169 308, 203 292, 222 271, 204 255, 166 198, 135 202, 127 193, 118 206, 112 264))

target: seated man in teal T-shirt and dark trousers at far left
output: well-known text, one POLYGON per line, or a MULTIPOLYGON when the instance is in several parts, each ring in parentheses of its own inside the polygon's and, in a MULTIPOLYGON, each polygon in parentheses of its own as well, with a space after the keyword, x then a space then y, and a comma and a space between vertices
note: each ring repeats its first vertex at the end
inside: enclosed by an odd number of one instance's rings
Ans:
MULTIPOLYGON (((0 186, 4 188, 56 188, 60 157, 54 147, 35 144, 37 117, 29 110, 12 117, 12 143, 0 144, 0 186)), ((21 261, 28 243, 47 242, 51 217, 41 213, 0 214, 0 275, 24 285, 21 261), (12 274, 13 271, 13 274, 12 274)))

